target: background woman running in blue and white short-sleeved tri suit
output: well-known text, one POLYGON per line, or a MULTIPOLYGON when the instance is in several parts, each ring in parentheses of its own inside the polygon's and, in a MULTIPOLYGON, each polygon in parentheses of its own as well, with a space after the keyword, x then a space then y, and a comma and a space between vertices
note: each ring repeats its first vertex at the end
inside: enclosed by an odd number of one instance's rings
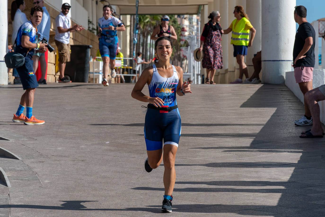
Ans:
POLYGON ((103 81, 104 86, 108 86, 108 73, 110 65, 110 75, 115 78, 115 58, 118 47, 118 37, 116 31, 125 31, 121 20, 111 16, 113 8, 110 5, 104 5, 103 17, 98 19, 98 38, 99 52, 103 60, 103 81))

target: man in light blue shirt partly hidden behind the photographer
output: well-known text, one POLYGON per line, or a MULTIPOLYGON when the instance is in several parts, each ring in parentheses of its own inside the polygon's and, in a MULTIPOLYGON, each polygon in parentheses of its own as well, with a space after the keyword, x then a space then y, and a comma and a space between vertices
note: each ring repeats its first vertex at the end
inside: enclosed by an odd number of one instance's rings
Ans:
MULTIPOLYGON (((37 31, 38 31, 38 41, 37 41, 37 43, 39 43, 39 42, 41 42, 41 40, 44 37, 47 38, 47 39, 50 37, 51 19, 50 19, 49 13, 46 10, 46 7, 44 7, 44 1, 43 0, 34 0, 34 5, 42 7, 42 9, 43 9, 42 21, 37 26, 37 31)), ((41 52, 34 53, 34 56, 33 56, 32 60, 33 60, 34 72, 36 72, 36 70, 38 68, 38 61, 40 62, 42 77, 40 77, 39 80, 37 81, 38 84, 46 84, 45 75, 46 75, 47 63, 46 63, 46 60, 45 60, 45 53, 41 53, 41 52)))

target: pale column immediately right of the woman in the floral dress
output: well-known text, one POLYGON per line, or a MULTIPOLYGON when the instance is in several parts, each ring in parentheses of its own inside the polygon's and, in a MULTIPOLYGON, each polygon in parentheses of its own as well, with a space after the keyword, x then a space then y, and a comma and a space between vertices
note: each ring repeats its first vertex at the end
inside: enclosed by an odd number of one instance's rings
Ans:
MULTIPOLYGON (((220 12, 221 19, 219 21, 221 28, 223 30, 228 29, 229 22, 228 22, 228 2, 227 1, 220 1, 220 12)), ((229 33, 230 34, 230 33, 229 33)), ((228 35, 222 35, 221 40, 221 47, 222 47, 222 55, 223 55, 223 69, 220 70, 220 84, 227 84, 228 82, 228 46, 230 42, 228 42, 228 35)))

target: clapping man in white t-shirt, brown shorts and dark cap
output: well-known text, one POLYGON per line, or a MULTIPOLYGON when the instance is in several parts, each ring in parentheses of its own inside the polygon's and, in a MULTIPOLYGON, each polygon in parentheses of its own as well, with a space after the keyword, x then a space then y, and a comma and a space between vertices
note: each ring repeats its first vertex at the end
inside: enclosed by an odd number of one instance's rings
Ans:
POLYGON ((68 3, 64 3, 61 7, 61 13, 55 18, 57 28, 55 29, 54 39, 59 53, 59 83, 71 83, 70 80, 64 77, 66 63, 70 62, 70 33, 85 29, 78 24, 71 27, 71 19, 68 16, 70 8, 71 6, 68 3))

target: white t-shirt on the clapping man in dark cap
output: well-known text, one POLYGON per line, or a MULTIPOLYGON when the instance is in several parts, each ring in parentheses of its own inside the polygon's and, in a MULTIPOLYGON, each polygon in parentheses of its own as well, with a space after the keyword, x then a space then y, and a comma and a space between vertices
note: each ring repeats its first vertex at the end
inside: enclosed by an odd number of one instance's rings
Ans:
POLYGON ((71 19, 69 16, 65 16, 62 11, 61 13, 55 18, 55 37, 54 39, 63 43, 69 44, 70 43, 70 32, 66 33, 59 33, 58 27, 62 27, 63 29, 70 29, 71 28, 71 19))

